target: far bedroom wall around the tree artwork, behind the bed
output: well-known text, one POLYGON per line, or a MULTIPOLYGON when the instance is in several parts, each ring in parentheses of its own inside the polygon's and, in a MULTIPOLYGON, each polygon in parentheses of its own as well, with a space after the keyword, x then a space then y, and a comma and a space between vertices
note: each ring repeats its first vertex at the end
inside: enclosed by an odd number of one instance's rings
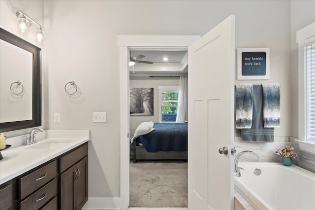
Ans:
POLYGON ((129 87, 147 87, 154 88, 154 115, 153 116, 130 116, 130 129, 135 130, 142 122, 159 122, 159 106, 158 106, 158 86, 179 86, 179 78, 158 79, 149 77, 130 77, 129 87))

